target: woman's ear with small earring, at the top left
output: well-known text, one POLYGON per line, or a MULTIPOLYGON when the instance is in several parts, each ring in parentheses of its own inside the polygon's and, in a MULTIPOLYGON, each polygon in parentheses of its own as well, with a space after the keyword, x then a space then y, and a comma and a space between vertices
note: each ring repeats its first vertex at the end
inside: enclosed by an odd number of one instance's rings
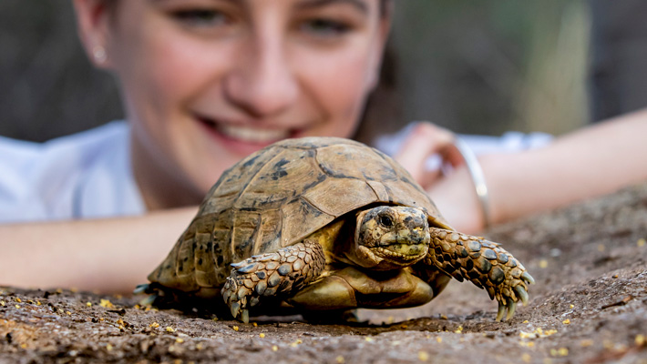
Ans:
POLYGON ((109 69, 110 0, 73 0, 77 13, 78 35, 87 57, 98 68, 109 69))

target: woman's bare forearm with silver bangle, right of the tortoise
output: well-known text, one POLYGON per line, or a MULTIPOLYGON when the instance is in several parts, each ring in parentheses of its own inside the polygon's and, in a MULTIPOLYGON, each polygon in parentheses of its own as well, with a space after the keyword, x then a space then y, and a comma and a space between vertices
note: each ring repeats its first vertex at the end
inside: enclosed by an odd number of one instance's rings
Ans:
MULTIPOLYGON (((647 180, 647 109, 561 136, 547 147, 479 161, 492 223, 611 193, 647 180)), ((452 226, 467 233, 483 229, 466 167, 424 187, 452 226)))

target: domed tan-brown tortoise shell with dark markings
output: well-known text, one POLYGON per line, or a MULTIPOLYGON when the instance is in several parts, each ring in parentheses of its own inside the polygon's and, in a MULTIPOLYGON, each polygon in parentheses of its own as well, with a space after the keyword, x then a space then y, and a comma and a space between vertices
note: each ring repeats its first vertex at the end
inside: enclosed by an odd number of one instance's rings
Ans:
POLYGON ((217 294, 231 263, 293 245, 338 217, 383 203, 422 208, 451 228, 391 157, 335 137, 286 139, 225 171, 151 282, 217 294))

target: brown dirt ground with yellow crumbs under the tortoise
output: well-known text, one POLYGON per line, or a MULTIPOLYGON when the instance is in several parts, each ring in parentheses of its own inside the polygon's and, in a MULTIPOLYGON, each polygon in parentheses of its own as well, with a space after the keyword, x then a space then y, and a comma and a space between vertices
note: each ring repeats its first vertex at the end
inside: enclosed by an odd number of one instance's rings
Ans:
POLYGON ((452 282, 368 323, 231 320, 138 298, 0 288, 0 362, 647 363, 647 184, 487 232, 537 280, 527 307, 452 282))

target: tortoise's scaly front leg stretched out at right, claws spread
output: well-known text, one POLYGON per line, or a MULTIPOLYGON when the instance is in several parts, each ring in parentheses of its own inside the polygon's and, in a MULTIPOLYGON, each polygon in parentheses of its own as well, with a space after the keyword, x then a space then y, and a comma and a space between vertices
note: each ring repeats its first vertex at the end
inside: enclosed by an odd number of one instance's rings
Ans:
POLYGON ((485 238, 430 227, 429 252, 424 264, 433 265, 458 281, 467 279, 497 298, 497 321, 512 318, 517 302, 528 303, 528 285, 535 283, 519 261, 506 249, 485 238))

